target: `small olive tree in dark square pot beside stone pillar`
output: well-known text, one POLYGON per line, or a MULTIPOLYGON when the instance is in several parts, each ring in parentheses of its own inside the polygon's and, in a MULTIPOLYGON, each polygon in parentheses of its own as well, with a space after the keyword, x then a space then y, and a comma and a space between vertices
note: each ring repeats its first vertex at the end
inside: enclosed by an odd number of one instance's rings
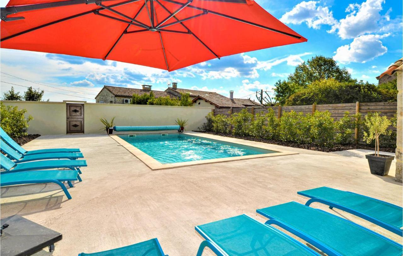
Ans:
POLYGON ((391 130, 388 130, 388 126, 392 125, 391 120, 386 116, 379 116, 378 112, 368 114, 364 121, 368 131, 364 131, 364 140, 367 143, 371 143, 375 140, 375 153, 366 155, 368 164, 370 165, 370 171, 372 174, 385 176, 389 173, 389 168, 394 156, 379 155, 379 136, 390 135, 391 130))

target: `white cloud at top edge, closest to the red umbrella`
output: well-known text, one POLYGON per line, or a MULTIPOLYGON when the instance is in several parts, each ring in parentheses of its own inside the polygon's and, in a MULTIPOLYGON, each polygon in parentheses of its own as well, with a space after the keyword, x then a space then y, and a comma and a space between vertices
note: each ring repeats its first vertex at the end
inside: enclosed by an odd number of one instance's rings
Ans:
POLYGON ((303 1, 286 12, 280 21, 291 24, 305 22, 308 27, 320 29, 320 25, 335 25, 337 20, 327 6, 317 6, 319 1, 303 1))

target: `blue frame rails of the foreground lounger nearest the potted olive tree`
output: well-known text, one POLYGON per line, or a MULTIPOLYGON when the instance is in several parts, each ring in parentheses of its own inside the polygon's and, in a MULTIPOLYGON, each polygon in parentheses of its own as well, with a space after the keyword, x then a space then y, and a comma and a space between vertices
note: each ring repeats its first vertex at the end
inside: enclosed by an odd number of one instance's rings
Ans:
MULTIPOLYGON (((344 192, 348 192, 348 193, 351 193, 351 194, 356 194, 356 195, 359 195, 359 196, 364 196, 362 194, 358 194, 358 193, 354 193, 354 192, 350 192, 350 191, 344 191, 344 192)), ((396 227, 393 227, 392 225, 389 225, 388 223, 386 223, 386 222, 384 222, 384 221, 382 221, 380 219, 376 219, 374 217, 366 215, 365 213, 361 213, 361 212, 356 211, 354 209, 351 209, 351 208, 349 208, 347 206, 343 206, 341 204, 338 204, 337 202, 333 202, 333 201, 330 201, 330 200, 309 196, 309 195, 307 195, 307 194, 305 194, 303 192, 297 192, 297 194, 299 194, 301 196, 306 196, 308 198, 311 198, 305 203, 306 206, 310 206, 310 204, 312 204, 314 202, 319 202, 319 203, 322 203, 322 204, 326 204, 326 205, 329 206, 330 209, 336 208, 336 209, 345 211, 347 213, 351 213, 351 214, 353 214, 353 215, 355 215, 357 217, 360 217, 360 218, 365 219, 367 221, 370 221, 370 222, 372 222, 372 223, 374 223, 374 224, 376 224, 376 225, 378 225, 380 227, 383 227, 384 229, 392 231, 393 233, 395 233, 397 235, 403 236, 403 230, 402 229, 398 229, 396 227)), ((373 197, 370 197, 370 196, 364 196, 364 197, 370 198, 371 200, 376 200, 376 201, 379 201, 379 202, 382 202, 382 203, 386 203, 386 204, 396 206, 395 204, 391 204, 389 202, 385 202, 385 201, 382 201, 382 200, 379 200, 379 199, 376 199, 376 198, 373 198, 373 197)), ((403 211, 403 208, 401 208, 401 209, 403 211)))

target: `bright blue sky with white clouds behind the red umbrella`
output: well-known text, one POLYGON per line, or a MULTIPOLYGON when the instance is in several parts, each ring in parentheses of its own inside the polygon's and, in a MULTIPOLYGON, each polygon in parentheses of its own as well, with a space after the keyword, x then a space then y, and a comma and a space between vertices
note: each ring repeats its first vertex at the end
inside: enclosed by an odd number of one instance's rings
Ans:
MULTIPOLYGON (((235 97, 254 99, 256 90, 272 91, 278 79, 287 78, 297 64, 315 55, 333 57, 349 69, 353 78, 370 83, 377 83, 375 77, 402 57, 402 1, 257 2, 308 42, 223 57, 173 72, 108 60, 1 49, 1 94, 13 83, 21 92, 26 89, 22 86, 44 89, 44 97, 50 101, 94 102, 103 85, 141 88, 147 84, 154 90, 164 90, 167 83, 177 82, 180 88, 217 91, 226 96, 233 90, 235 97)), ((7 1, 0 3, 4 7, 7 1)))

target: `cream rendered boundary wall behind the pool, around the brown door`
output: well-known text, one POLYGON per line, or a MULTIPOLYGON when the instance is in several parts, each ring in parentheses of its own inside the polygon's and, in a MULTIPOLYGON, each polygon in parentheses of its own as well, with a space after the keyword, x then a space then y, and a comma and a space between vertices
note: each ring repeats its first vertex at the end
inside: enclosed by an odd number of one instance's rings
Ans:
MULTIPOLYGON (((47 101, 1 101, 4 105, 27 109, 26 116, 34 119, 29 122, 29 134, 66 134, 66 102, 47 101)), ((68 101, 68 103, 77 103, 68 101)), ((187 119, 186 130, 196 130, 206 122, 211 107, 177 107, 131 104, 84 104, 84 133, 105 133, 100 118, 115 118, 117 126, 158 126, 175 125, 177 118, 187 119)))

